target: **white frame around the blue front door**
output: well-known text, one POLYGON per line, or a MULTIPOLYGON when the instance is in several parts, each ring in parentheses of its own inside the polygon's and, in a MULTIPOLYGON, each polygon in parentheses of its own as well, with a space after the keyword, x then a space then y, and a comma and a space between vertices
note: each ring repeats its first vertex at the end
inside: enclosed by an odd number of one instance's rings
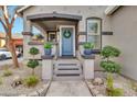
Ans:
POLYGON ((73 29, 73 56, 75 57, 75 25, 60 25, 60 56, 62 56, 62 27, 73 29))

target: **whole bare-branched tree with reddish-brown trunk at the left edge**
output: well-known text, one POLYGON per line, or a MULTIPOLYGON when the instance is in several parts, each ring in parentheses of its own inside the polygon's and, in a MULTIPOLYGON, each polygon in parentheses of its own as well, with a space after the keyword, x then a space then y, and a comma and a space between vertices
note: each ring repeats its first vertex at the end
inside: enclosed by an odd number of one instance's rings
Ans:
POLYGON ((14 67, 18 68, 19 63, 18 63, 17 53, 15 53, 15 47, 12 41, 12 27, 17 16, 18 14, 15 10, 14 12, 9 12, 7 5, 0 5, 0 23, 2 24, 6 33, 6 47, 10 50, 12 55, 14 67))

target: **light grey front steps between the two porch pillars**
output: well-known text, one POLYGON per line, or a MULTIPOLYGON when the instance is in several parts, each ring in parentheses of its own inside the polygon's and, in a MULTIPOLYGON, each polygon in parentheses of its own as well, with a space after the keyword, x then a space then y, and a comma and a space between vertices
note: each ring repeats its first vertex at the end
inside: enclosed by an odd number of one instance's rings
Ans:
POLYGON ((57 59, 54 63, 53 80, 81 80, 82 65, 77 59, 57 59))

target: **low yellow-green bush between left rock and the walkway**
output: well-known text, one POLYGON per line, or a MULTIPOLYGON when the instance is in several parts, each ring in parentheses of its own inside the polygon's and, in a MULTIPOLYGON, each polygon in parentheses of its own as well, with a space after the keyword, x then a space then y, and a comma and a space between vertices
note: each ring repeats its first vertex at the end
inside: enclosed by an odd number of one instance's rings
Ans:
POLYGON ((39 78, 36 76, 29 76, 23 80, 23 83, 27 87, 35 87, 38 82, 39 82, 39 78))

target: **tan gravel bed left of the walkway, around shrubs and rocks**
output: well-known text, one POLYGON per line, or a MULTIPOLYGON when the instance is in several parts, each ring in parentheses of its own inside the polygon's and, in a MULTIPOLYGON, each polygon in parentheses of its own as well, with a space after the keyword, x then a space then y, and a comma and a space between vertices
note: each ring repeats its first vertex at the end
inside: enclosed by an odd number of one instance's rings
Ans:
MULTIPOLYGON (((40 81, 35 87, 25 87, 23 84, 19 84, 18 87, 11 87, 14 77, 20 76, 22 79, 31 75, 31 69, 27 68, 22 64, 20 64, 20 68, 13 68, 13 66, 9 66, 9 69, 12 71, 12 75, 9 77, 3 77, 4 66, 0 68, 0 77, 2 79, 2 83, 0 84, 0 95, 35 95, 34 92, 39 92, 38 95, 41 95, 40 92, 46 91, 49 82, 40 81)), ((41 79, 41 67, 35 68, 35 75, 41 79)))

